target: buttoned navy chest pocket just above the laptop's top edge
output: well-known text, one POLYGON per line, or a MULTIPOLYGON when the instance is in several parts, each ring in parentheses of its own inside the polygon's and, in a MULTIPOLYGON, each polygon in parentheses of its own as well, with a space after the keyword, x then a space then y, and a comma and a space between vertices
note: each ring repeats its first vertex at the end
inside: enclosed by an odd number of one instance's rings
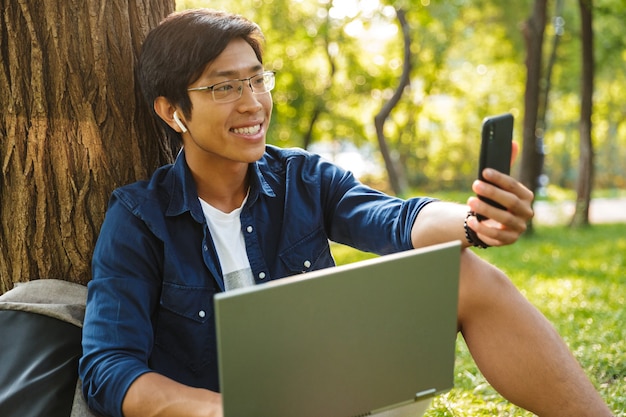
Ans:
POLYGON ((290 275, 335 266, 328 237, 319 228, 283 250, 279 257, 290 275))

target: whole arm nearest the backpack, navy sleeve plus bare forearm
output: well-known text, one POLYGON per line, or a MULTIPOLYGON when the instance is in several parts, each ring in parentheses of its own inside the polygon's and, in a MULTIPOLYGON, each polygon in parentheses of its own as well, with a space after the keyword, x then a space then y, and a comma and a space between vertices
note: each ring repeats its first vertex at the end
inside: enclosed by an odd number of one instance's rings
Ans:
POLYGON ((115 199, 93 255, 79 367, 84 396, 98 415, 222 415, 220 395, 183 386, 148 365, 163 291, 162 251, 145 223, 115 199))

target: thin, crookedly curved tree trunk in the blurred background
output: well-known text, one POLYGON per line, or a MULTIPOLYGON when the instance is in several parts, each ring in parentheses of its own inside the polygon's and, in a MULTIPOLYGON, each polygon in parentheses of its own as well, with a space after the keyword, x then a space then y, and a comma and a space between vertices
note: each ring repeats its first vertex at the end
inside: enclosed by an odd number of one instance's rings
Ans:
POLYGON ((409 86, 411 76, 410 28, 408 22, 406 21, 406 13, 404 10, 397 9, 396 15, 398 17, 398 21, 400 22, 402 35, 404 38, 404 65, 402 68, 402 75, 400 76, 400 84, 398 85, 398 88, 396 88, 396 91, 394 92, 391 99, 389 99, 389 101, 385 103, 383 108, 380 109, 378 114, 374 116, 374 126, 376 127, 378 145, 380 147, 380 152, 383 156, 383 160, 385 161, 385 167, 387 168, 387 175, 389 176, 389 184, 391 186, 391 189, 396 195, 402 195, 407 187, 406 181, 402 180, 403 176, 398 172, 395 161, 391 157, 384 132, 385 121, 391 114, 391 111, 396 106, 396 104, 398 104, 398 101, 400 101, 400 98, 402 98, 404 89, 409 86))

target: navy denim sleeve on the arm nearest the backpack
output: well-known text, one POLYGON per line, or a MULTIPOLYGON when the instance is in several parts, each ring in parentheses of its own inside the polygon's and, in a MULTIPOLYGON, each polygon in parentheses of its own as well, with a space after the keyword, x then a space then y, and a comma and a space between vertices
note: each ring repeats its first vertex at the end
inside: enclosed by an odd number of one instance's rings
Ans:
POLYGON ((98 413, 122 417, 129 386, 150 372, 158 253, 145 223, 113 198, 93 255, 79 364, 83 394, 98 413))

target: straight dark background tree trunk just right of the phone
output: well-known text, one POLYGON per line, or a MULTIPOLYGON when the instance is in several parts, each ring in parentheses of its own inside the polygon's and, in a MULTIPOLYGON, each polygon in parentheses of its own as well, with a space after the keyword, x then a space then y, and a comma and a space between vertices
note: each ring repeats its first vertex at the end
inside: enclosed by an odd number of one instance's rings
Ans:
MULTIPOLYGON (((543 146, 537 138, 537 115, 541 85, 543 35, 546 27, 546 0, 536 0, 533 14, 523 28, 526 41, 526 91, 524 93, 524 125, 520 181, 533 192, 541 174, 543 146)), ((532 231, 532 220, 528 231, 532 231)))

